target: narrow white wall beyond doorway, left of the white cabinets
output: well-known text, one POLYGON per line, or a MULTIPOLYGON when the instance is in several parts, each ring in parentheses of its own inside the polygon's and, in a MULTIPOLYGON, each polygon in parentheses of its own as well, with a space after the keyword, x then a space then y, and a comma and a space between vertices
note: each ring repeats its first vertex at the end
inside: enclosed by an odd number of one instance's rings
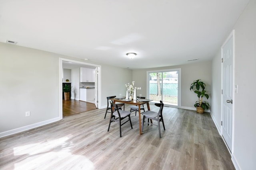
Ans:
POLYGON ((80 68, 71 69, 72 78, 72 92, 71 98, 75 100, 80 99, 80 68))

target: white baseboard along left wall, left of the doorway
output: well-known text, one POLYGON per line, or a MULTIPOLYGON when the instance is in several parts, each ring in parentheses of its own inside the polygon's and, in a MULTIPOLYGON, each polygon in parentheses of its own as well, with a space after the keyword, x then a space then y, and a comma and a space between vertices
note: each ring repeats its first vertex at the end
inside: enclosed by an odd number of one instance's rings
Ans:
POLYGON ((56 122, 56 121, 59 121, 59 120, 60 120, 60 117, 56 117, 56 118, 49 119, 49 120, 46 120, 46 121, 41 121, 41 122, 34 123, 34 124, 31 124, 31 125, 27 125, 27 126, 19 127, 19 128, 12 129, 12 130, 9 130, 9 131, 1 132, 0 133, 0 138, 6 137, 6 136, 9 136, 9 135, 13 135, 15 133, 20 133, 20 132, 23 132, 23 131, 27 131, 29 129, 34 129, 36 127, 40 127, 40 126, 43 126, 43 125, 46 125, 46 124, 49 124, 49 123, 53 123, 53 122, 56 122))

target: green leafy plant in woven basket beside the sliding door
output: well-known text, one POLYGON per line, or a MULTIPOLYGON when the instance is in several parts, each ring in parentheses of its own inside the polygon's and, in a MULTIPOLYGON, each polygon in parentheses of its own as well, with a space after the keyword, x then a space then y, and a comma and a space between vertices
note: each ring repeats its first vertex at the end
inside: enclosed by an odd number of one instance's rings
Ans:
POLYGON ((196 101, 196 103, 194 104, 197 113, 204 113, 204 110, 209 109, 210 106, 208 102, 203 101, 204 96, 206 97, 206 99, 209 98, 209 95, 206 94, 205 87, 206 84, 200 79, 194 80, 194 82, 192 82, 192 84, 190 85, 190 91, 194 90, 198 97, 198 101, 196 101), (194 87, 196 87, 196 90, 193 89, 194 87))

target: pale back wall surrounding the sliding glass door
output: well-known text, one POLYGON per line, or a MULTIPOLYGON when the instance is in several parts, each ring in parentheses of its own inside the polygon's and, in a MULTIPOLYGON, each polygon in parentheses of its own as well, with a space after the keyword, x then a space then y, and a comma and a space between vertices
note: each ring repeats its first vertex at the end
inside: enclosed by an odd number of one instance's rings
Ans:
MULTIPOLYGON (((173 68, 181 68, 182 108, 195 109, 194 104, 198 98, 193 91, 189 90, 190 84, 194 80, 201 79, 205 82, 207 93, 211 96, 211 61, 202 61, 200 63, 191 62, 190 64, 178 66, 133 70, 132 79, 135 81, 136 86, 141 87, 140 93, 142 96, 146 96, 146 72, 150 70, 167 70, 173 68)), ((206 101, 210 103, 211 97, 206 101)))

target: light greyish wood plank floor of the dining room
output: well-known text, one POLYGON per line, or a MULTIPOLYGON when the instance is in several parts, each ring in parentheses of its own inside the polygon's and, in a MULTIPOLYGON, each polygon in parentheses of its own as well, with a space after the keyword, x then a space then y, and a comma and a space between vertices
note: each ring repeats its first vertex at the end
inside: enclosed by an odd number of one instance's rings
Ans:
MULTIPOLYGON (((150 105, 151 110, 158 108, 150 105)), ((128 110, 126 105, 126 110, 128 110)), ((166 131, 112 123, 94 109, 0 139, 0 169, 54 170, 234 170, 230 154, 209 113, 164 107, 166 131)))

